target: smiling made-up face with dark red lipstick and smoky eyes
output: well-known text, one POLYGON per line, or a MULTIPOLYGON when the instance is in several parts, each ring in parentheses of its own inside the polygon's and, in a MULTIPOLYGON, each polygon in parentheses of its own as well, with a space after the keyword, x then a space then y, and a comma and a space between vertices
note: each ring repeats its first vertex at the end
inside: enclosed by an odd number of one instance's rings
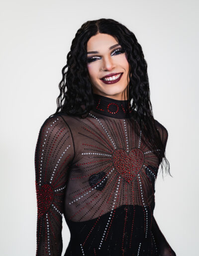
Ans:
POLYGON ((127 100, 129 63, 116 39, 101 33, 92 36, 87 43, 87 53, 93 92, 116 100, 127 100), (103 78, 109 74, 112 75, 103 78))

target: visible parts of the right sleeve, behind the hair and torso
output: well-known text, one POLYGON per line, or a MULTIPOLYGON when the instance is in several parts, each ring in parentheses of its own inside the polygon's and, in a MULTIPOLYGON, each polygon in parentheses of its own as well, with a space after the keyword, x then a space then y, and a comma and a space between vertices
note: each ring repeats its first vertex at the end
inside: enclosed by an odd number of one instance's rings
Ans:
MULTIPOLYGON (((168 131, 167 129, 162 126, 159 122, 156 121, 157 128, 160 133, 160 137, 162 139, 164 148, 166 150, 167 140, 168 140, 168 131)), ((153 201, 153 208, 155 207, 155 198, 153 201)), ((160 256, 176 256, 175 252, 172 250, 170 245, 168 244, 166 238, 164 237, 163 233, 161 232, 154 216, 152 219, 152 233, 155 237, 156 243, 160 249, 160 256)))

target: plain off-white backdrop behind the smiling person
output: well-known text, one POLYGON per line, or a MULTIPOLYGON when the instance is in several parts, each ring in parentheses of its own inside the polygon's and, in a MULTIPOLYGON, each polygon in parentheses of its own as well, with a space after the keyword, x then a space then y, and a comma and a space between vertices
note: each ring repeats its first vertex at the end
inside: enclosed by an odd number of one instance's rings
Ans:
MULTIPOLYGON (((87 20, 112 18, 141 44, 156 120, 169 132, 171 174, 159 174, 154 216, 177 256, 199 241, 199 2, 4 0, 0 3, 0 255, 34 256, 34 150, 56 111, 61 69, 87 20)), ((69 243, 63 218, 63 254, 69 243)))

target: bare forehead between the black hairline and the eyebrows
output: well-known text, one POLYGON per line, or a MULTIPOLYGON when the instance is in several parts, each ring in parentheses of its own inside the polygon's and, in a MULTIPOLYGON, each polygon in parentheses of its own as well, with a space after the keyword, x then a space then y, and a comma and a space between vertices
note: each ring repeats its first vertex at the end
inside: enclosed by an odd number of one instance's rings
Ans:
POLYGON ((118 41, 111 35, 108 34, 97 34, 95 36, 92 36, 88 43, 87 43, 87 51, 103 51, 106 50, 112 46, 117 44, 118 41))

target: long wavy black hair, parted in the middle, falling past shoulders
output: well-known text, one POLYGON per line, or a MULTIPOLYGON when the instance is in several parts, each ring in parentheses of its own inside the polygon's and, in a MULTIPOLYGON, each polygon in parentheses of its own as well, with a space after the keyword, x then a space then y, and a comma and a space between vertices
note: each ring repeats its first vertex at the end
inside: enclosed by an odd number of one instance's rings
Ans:
POLYGON ((157 147, 160 149, 154 153, 159 158, 159 164, 162 163, 162 171, 164 160, 166 172, 170 174, 170 164, 165 156, 167 141, 161 138, 156 126, 157 122, 153 117, 147 62, 144 59, 142 48, 135 35, 113 19, 101 18, 87 21, 78 29, 67 55, 67 64, 62 68, 63 77, 59 83, 57 110, 50 117, 58 113, 67 113, 85 118, 93 108, 93 88, 87 68, 87 42, 98 33, 113 36, 124 50, 129 63, 128 101, 132 109, 136 110, 135 118, 143 134, 149 139, 151 149, 157 147))

